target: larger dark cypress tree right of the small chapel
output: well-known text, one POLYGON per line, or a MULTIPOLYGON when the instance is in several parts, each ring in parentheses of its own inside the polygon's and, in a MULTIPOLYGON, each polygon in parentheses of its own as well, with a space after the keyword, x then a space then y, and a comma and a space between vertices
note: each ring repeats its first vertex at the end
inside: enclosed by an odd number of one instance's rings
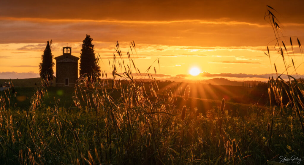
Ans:
POLYGON ((83 74, 92 75, 93 71, 95 71, 98 76, 100 76, 100 68, 97 65, 97 59, 95 57, 94 44, 92 44, 92 40, 93 39, 88 34, 83 40, 80 53, 80 76, 83 74))

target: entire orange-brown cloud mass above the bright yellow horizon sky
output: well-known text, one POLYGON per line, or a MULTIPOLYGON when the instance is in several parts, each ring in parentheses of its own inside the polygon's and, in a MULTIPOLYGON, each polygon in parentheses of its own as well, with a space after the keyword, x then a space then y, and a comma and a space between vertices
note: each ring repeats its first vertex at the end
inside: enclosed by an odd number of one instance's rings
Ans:
MULTIPOLYGON (((280 15, 287 18, 280 19, 286 22, 285 28, 292 35, 296 33, 303 37, 304 20, 301 18, 304 13, 300 6, 304 2, 271 2, 280 15)), ((109 43, 135 40, 138 43, 185 48, 261 46, 273 36, 270 25, 262 19, 266 3, 262 0, 230 0, 229 3, 223 0, 212 3, 195 0, 188 3, 180 0, 86 3, 75 0, 67 7, 58 0, 52 3, 7 1, 0 6, 0 43, 45 43, 50 39, 54 42, 81 42, 88 33, 94 41, 109 43)))

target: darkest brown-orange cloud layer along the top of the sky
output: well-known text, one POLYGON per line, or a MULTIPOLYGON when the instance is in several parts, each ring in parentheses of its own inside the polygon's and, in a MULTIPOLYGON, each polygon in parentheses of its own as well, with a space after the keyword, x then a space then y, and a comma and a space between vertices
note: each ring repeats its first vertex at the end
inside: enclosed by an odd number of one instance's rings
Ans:
POLYGON ((74 0, 67 5, 60 0, 47 1, 4 1, 0 6, 0 15, 5 17, 29 17, 51 19, 122 19, 149 21, 176 21, 178 19, 223 19, 232 18, 239 22, 264 23, 265 6, 271 4, 289 22, 303 22, 303 1, 209 1, 181 0, 156 1, 98 1, 90 3, 74 0), (237 4, 237 5, 235 5, 237 4), (168 8, 168 6, 170 6, 168 8), (128 9, 128 10, 126 10, 128 9), (88 12, 90 11, 90 12, 88 12))

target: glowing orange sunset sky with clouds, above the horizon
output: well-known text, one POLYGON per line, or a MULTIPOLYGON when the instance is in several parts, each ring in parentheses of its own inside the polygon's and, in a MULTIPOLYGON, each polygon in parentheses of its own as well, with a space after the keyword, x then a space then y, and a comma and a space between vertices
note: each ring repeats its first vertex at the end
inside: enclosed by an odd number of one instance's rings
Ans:
MULTIPOLYGON (((72 55, 79 57, 88 34, 101 57, 101 70, 107 73, 118 41, 124 57, 129 51, 142 73, 152 65, 159 79, 265 81, 275 76, 274 64, 279 74, 286 73, 272 42, 274 31, 264 19, 266 5, 277 11, 271 10, 282 34, 288 36, 282 38, 285 43, 289 36, 295 36, 294 44, 297 37, 304 40, 303 1, 4 1, 0 78, 39 77, 47 40, 53 41, 54 57, 62 55, 64 46, 72 47, 72 55), (271 58, 264 54, 267 46, 271 58), (160 65, 154 62, 157 59, 160 65), (194 67, 201 72, 198 76, 189 73, 194 67)), ((301 51, 294 49, 286 61, 293 60, 297 69, 290 67, 289 73, 304 77, 301 51)))

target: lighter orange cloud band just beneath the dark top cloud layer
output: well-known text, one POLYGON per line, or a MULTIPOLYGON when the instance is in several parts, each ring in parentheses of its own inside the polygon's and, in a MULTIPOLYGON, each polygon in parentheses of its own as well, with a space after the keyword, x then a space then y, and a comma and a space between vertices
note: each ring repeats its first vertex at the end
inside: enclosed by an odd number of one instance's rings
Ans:
MULTIPOLYGON (((202 45, 206 47, 261 46, 261 43, 269 41, 268 38, 263 37, 269 36, 267 29, 270 27, 268 26, 256 28, 236 23, 237 21, 225 22, 223 20, 200 20, 199 22, 205 23, 198 23, 197 20, 162 23, 162 21, 128 22, 125 20, 53 20, 0 17, 0 36, 2 36, 0 43, 45 43, 50 39, 53 39, 54 42, 81 42, 85 33, 90 34, 93 41, 115 43, 116 40, 120 42, 134 40, 137 43, 180 45, 183 47, 202 45), (244 33, 248 34, 244 35, 244 33), (261 35, 255 35, 257 33, 261 35)), ((300 32, 301 29, 298 31, 300 32)), ((20 48, 20 50, 43 50, 43 48, 45 45, 38 48, 28 46, 20 48)), ((160 51, 156 49, 154 51, 160 51)))

